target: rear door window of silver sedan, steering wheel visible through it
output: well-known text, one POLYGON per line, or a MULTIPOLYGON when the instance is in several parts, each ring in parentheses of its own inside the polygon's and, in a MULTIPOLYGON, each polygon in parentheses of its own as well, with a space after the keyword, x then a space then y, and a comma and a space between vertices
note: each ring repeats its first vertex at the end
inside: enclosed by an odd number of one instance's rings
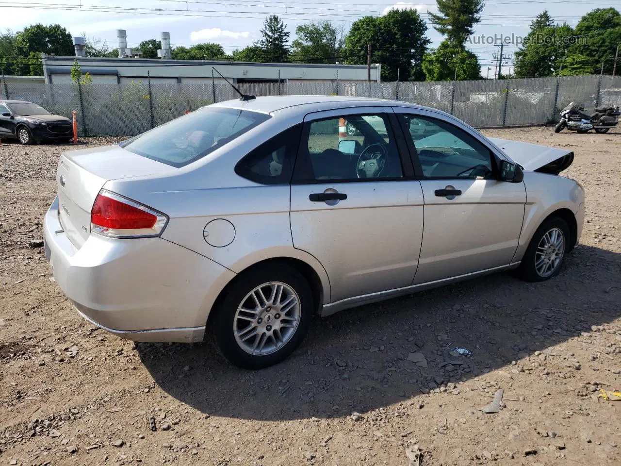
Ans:
POLYGON ((308 139, 307 166, 315 181, 366 180, 403 176, 388 117, 348 115, 313 121, 308 139))

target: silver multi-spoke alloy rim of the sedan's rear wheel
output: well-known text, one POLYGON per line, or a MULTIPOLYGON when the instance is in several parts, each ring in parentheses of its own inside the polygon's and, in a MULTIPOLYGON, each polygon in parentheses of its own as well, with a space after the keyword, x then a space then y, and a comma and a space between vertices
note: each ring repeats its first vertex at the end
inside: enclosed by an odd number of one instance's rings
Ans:
POLYGON ((237 307, 233 333, 241 349, 264 356, 286 345, 300 321, 300 299, 291 286, 270 281, 256 286, 237 307))

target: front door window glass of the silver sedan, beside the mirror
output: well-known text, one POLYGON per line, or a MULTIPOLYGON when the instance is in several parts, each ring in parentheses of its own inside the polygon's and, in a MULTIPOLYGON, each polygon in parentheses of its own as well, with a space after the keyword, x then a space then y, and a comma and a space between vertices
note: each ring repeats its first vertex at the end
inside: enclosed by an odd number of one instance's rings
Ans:
POLYGON ((442 120, 399 115, 425 178, 489 178, 494 163, 489 148, 464 130, 442 120))

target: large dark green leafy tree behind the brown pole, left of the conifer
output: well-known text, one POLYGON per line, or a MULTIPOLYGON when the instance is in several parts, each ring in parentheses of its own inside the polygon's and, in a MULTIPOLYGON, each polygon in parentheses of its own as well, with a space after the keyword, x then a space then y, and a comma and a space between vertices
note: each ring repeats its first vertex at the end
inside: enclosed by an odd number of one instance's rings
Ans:
POLYGON ((371 60, 381 63, 381 78, 396 81, 420 80, 421 63, 430 40, 427 25, 415 9, 392 9, 384 16, 365 16, 353 22, 345 38, 344 55, 348 63, 366 64, 367 45, 371 60))

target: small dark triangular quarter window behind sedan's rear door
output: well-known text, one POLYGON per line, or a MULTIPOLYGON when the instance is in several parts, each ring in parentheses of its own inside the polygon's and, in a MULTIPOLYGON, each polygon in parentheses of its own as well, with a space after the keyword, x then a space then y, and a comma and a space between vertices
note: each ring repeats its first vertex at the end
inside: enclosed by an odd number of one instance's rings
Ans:
POLYGON ((299 124, 264 142, 235 165, 235 173, 263 185, 288 185, 301 130, 299 124))

